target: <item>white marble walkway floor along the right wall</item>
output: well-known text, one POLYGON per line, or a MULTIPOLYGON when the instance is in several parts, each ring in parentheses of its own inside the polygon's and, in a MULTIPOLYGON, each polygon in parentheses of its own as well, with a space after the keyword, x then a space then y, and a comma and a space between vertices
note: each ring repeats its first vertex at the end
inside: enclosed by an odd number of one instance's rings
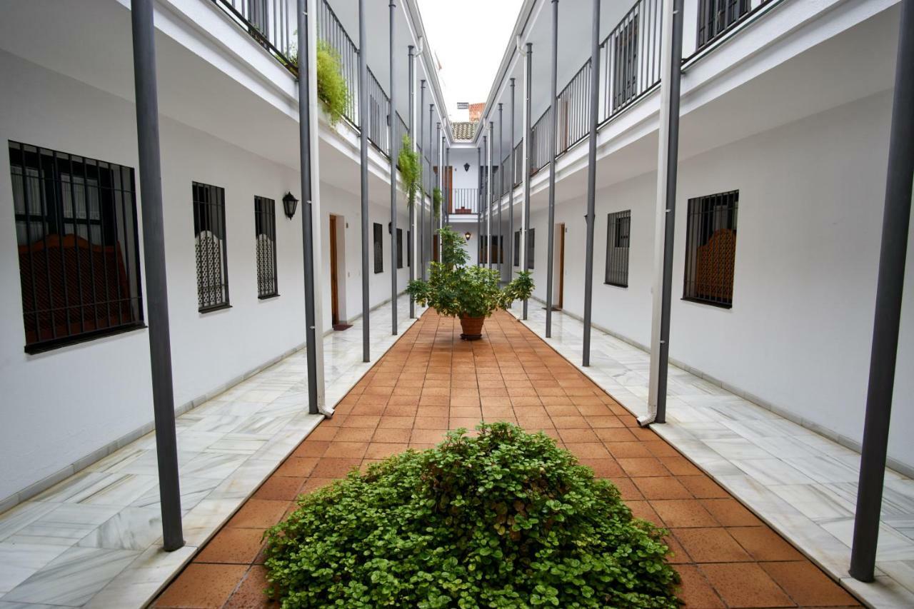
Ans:
MULTIPOLYGON (((520 304, 512 310, 520 316, 520 304)), ((546 311, 530 301, 526 326, 545 337, 546 311)), ((580 366, 583 324, 552 315, 546 342, 634 414, 647 413, 648 354, 593 329, 580 366)), ((777 379, 771 379, 777 382, 777 379)), ((673 366, 666 423, 652 429, 836 580, 876 607, 914 607, 914 480, 886 470, 877 582, 847 574, 860 455, 673 366)))

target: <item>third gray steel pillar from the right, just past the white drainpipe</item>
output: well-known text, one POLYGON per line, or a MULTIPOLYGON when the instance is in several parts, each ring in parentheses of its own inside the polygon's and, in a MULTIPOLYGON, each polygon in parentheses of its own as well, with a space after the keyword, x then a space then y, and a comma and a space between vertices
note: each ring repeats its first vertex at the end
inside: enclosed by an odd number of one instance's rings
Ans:
POLYGON ((600 0, 593 0, 590 27, 590 139, 587 143, 587 245, 584 250, 584 353, 582 366, 590 366, 590 315, 593 310, 593 227, 597 195, 597 105, 600 102, 600 0))

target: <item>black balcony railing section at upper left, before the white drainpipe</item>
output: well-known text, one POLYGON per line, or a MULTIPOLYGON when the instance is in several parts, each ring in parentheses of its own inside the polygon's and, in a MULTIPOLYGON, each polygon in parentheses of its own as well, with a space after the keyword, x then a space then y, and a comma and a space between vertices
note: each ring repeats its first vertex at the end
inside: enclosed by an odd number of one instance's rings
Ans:
POLYGON ((293 63, 296 53, 295 30, 297 27, 294 3, 288 0, 213 0, 250 37, 282 63, 293 74, 298 70, 293 63))

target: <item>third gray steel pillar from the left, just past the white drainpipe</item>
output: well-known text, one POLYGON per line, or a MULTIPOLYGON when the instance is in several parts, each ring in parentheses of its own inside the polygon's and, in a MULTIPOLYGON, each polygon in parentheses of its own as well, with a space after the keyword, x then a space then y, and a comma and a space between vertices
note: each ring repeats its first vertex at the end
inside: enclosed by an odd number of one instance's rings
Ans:
POLYGON ((358 124, 362 180, 362 361, 371 361, 368 347, 368 37, 365 0, 358 0, 358 124))

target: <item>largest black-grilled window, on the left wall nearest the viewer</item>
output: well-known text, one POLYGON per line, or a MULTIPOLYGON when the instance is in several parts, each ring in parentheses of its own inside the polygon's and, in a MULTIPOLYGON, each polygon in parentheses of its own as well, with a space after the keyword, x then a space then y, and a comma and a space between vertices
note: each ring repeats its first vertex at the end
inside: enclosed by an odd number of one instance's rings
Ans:
POLYGON ((9 142, 26 351, 143 326, 133 169, 9 142))

